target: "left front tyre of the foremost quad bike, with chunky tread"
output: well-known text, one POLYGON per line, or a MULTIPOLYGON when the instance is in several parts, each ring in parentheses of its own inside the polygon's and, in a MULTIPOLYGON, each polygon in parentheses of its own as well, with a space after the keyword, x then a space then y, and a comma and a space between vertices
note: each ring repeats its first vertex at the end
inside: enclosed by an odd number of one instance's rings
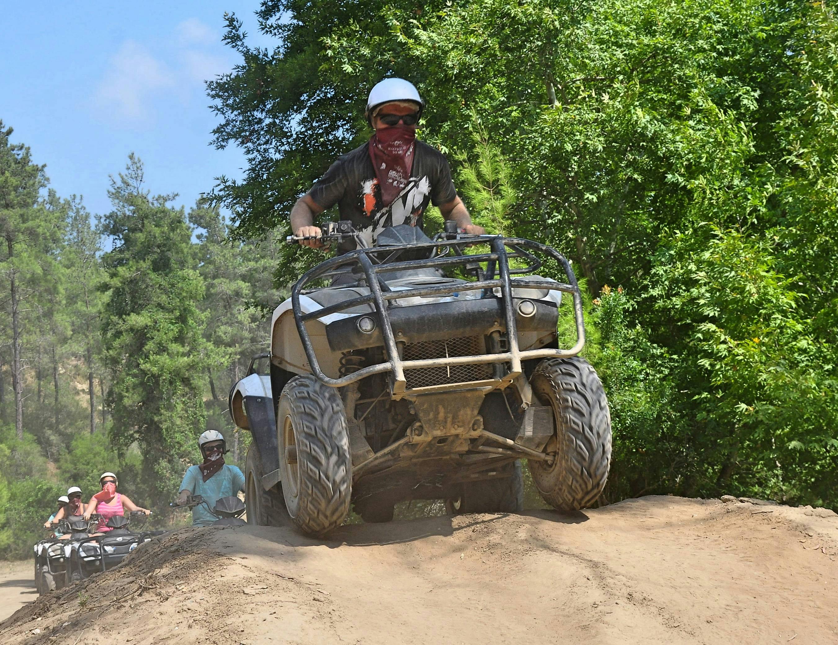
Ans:
POLYGON ((315 377, 293 377, 277 408, 282 493, 302 533, 322 536, 349 515, 352 457, 344 403, 315 377))

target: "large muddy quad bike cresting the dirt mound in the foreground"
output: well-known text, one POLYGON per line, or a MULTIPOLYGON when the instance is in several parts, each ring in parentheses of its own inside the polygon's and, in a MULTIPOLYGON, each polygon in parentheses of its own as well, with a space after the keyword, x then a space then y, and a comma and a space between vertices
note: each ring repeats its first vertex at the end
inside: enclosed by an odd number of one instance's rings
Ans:
POLYGON ((347 238, 360 248, 297 280, 273 313, 271 352, 230 392, 234 423, 253 436, 248 522, 323 535, 352 505, 386 522, 408 499, 520 512, 520 459, 552 507, 596 502, 611 420, 602 383, 577 357, 582 299, 566 258, 539 242, 458 234, 454 222, 434 240, 387 228, 365 247, 341 221, 321 240, 347 238), (536 275, 542 267, 566 282, 536 275), (576 327, 566 349, 562 294, 576 327))

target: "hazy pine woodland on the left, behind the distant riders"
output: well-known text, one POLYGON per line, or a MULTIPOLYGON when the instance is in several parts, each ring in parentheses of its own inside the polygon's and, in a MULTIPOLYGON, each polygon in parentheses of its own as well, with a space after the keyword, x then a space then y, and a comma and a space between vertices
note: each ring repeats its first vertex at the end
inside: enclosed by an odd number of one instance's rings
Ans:
POLYGON ((204 429, 243 461, 227 393, 282 299, 271 235, 231 241, 218 207, 173 208, 133 154, 113 211, 92 216, 13 138, 0 125, 0 558, 28 553, 55 499, 92 495, 102 471, 164 507, 204 429))

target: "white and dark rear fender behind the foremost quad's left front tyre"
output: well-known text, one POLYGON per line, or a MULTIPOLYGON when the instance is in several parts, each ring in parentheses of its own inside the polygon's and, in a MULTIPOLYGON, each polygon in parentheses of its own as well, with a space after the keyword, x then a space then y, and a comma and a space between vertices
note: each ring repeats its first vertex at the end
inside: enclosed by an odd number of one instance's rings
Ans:
MULTIPOLYGON (((273 372, 273 370, 272 370, 273 372)), ((279 481, 277 419, 274 414, 272 377, 251 374, 230 391, 230 416, 241 429, 249 430, 262 460, 262 486, 267 490, 279 481)))

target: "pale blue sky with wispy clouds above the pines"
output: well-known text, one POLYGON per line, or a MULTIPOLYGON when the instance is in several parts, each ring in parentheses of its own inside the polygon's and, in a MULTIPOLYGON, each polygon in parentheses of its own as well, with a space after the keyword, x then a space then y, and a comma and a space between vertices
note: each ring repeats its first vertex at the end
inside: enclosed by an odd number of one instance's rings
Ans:
POLYGON ((236 148, 209 145, 218 122, 204 80, 239 59, 221 44, 225 11, 252 42, 257 2, 4 3, 0 119, 47 164, 61 196, 84 195, 110 211, 108 174, 136 152, 153 193, 177 192, 189 208, 220 174, 240 177, 236 148))

